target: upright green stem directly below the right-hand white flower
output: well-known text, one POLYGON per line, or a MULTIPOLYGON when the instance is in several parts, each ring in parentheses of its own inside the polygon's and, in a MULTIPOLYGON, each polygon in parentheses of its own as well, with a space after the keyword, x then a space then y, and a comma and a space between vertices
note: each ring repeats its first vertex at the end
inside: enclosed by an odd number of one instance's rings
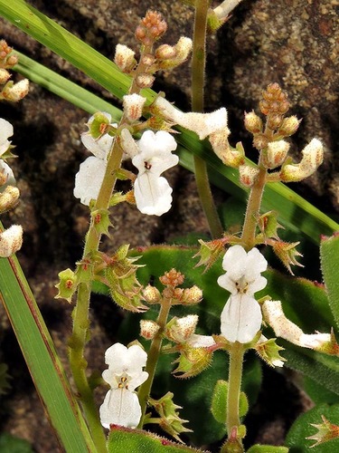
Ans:
POLYGON ((242 362, 244 348, 240 342, 231 344, 230 352, 230 370, 229 370, 229 391, 227 394, 227 419, 226 428, 228 435, 231 435, 231 429, 240 426, 239 403, 240 388, 242 378, 242 362))

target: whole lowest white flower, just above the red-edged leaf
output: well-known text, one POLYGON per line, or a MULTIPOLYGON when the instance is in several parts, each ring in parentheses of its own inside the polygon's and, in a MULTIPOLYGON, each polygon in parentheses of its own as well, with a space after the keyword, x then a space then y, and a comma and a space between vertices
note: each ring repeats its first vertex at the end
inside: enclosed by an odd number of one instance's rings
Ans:
POLYGON ((123 344, 113 344, 105 353, 108 370, 102 377, 110 385, 104 402, 100 406, 100 421, 109 429, 110 424, 136 428, 141 418, 141 408, 136 388, 146 381, 147 354, 137 344, 127 348, 123 344))

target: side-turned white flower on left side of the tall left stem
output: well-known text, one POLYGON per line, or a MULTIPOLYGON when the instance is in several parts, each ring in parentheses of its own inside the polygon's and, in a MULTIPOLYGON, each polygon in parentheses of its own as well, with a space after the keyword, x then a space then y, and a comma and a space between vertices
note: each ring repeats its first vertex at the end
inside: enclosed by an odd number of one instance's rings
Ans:
MULTIPOLYGON (((109 113, 102 112, 111 121, 109 113)), ((95 116, 89 118, 88 126, 93 122, 95 116)), ((117 124, 110 124, 117 127, 117 124)), ((94 154, 80 164, 79 172, 75 175, 74 197, 80 198, 83 205, 89 206, 91 199, 97 199, 102 180, 107 168, 108 154, 112 147, 114 137, 103 134, 99 139, 94 139, 89 132, 81 134, 82 144, 94 154)))

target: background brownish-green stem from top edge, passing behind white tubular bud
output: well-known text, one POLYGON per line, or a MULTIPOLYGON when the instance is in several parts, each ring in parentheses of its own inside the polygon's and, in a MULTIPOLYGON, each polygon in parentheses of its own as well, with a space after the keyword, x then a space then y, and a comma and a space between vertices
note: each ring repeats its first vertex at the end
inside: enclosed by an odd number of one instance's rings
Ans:
MULTIPOLYGON (((192 57, 192 110, 203 111, 203 85, 205 73, 205 42, 209 0, 196 0, 193 31, 192 57)), ((221 237, 223 230, 212 191, 205 161, 194 156, 194 173, 202 209, 206 216, 213 238, 221 237)))

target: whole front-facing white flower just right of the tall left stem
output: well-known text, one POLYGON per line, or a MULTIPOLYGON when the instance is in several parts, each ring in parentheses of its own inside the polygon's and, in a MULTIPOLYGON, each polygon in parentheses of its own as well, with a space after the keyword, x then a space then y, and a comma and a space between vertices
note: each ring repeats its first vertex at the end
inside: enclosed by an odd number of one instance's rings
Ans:
POLYGON ((171 152, 176 142, 168 132, 146 130, 137 145, 139 152, 132 159, 139 170, 134 184, 137 208, 148 216, 162 216, 171 208, 172 188, 160 175, 179 161, 171 152))

